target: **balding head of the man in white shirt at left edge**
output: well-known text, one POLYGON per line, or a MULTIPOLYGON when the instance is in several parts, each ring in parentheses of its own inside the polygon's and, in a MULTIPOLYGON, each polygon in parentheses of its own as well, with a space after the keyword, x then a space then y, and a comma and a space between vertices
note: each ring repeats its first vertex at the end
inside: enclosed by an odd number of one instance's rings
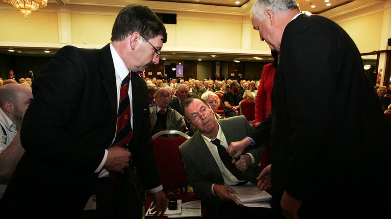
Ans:
POLYGON ((18 130, 31 100, 33 94, 29 86, 10 83, 0 87, 0 108, 15 123, 18 130))

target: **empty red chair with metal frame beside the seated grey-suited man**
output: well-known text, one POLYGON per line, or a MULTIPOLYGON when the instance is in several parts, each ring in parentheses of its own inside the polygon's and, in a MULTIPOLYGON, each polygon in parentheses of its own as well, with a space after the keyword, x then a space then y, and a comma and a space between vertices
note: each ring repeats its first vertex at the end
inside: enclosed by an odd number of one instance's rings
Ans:
MULTIPOLYGON (((188 181, 183 168, 182 157, 179 153, 179 146, 190 137, 183 132, 176 130, 165 130, 152 136, 153 152, 157 170, 164 189, 181 188, 181 194, 166 195, 167 199, 182 199, 182 203, 199 200, 194 193, 187 194, 188 181), (173 138, 165 138, 162 135, 177 135, 173 138), (184 189, 184 194, 182 191, 184 189)), ((146 211, 151 206, 152 198, 148 197, 145 201, 146 211)), ((207 215, 206 207, 201 203, 202 216, 207 215)), ((147 216, 149 219, 161 219, 162 217, 147 216)))

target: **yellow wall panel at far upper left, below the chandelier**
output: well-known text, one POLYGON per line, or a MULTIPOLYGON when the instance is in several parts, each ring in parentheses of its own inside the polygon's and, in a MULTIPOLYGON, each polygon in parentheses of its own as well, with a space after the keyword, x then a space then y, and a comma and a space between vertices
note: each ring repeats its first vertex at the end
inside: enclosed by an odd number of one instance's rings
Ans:
POLYGON ((59 41, 57 13, 36 11, 26 21, 18 10, 0 9, 0 27, 0 41, 59 41))

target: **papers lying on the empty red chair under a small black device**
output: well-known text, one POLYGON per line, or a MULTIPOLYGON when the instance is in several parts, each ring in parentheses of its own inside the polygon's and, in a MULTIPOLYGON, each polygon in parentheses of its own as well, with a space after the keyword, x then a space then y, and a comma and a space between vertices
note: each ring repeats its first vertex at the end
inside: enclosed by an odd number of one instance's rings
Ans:
MULTIPOLYGON (((153 203, 153 202, 152 202, 153 203)), ((201 201, 189 201, 182 204, 182 200, 177 200, 177 210, 169 210, 166 209, 166 212, 163 216, 167 216, 168 218, 195 218, 202 217, 201 215, 201 201)), ((152 204, 151 204, 152 206, 152 204)), ((155 210, 151 209, 151 207, 146 212, 145 216, 153 216, 155 210)), ((160 216, 160 215, 159 215, 160 216)))

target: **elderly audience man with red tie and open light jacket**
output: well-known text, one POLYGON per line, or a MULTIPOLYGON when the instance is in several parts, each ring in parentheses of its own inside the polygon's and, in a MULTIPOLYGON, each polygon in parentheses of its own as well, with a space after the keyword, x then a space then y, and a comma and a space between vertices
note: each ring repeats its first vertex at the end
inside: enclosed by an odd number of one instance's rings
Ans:
POLYGON ((169 86, 158 87, 155 92, 156 107, 150 108, 151 135, 163 130, 178 130, 188 133, 182 115, 169 105, 171 89, 169 86))

